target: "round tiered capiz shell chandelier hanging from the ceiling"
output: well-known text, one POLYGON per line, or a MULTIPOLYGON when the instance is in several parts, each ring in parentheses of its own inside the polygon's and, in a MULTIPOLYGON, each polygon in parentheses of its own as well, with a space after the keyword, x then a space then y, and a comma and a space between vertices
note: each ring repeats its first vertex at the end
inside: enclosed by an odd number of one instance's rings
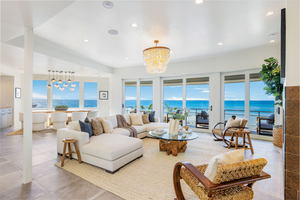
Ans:
POLYGON ((170 61, 170 49, 163 46, 157 46, 158 40, 155 40, 155 47, 150 47, 143 51, 144 65, 148 73, 164 73, 167 64, 170 61))

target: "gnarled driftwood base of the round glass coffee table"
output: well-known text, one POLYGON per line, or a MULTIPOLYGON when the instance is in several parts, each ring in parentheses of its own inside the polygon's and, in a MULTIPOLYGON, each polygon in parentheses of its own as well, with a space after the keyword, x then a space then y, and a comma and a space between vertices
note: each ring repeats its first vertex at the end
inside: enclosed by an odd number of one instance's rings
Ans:
POLYGON ((159 151, 167 151, 167 155, 177 156, 178 152, 187 149, 187 141, 159 139, 159 151))

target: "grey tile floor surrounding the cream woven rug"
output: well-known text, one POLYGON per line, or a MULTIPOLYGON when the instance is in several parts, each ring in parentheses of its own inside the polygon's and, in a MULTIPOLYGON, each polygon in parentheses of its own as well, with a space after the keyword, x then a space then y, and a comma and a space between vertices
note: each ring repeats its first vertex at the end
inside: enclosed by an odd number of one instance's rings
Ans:
MULTIPOLYGON (((19 129, 1 129, 0 199, 122 199, 55 166, 54 163, 62 159, 56 153, 56 133, 33 134, 33 181, 22 184, 23 135, 7 136, 19 129)), ((246 150, 245 159, 264 157, 268 160, 264 171, 272 177, 255 183, 253 199, 283 199, 282 148, 275 147, 270 141, 251 141, 254 154, 246 150)))

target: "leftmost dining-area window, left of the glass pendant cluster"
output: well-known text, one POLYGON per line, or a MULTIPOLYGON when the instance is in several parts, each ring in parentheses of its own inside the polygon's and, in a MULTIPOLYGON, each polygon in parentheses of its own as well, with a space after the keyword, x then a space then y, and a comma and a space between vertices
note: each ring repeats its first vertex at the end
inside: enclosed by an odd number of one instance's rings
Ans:
POLYGON ((33 80, 32 81, 32 107, 47 108, 47 81, 33 80))

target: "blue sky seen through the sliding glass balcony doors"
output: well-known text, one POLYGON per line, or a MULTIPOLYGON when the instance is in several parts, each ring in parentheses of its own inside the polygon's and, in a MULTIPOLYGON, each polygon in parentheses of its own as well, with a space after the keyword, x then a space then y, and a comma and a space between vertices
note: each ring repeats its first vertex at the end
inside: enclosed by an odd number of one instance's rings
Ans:
MULTIPOLYGON (((142 86, 140 90, 141 100, 152 100, 152 86, 142 86), (143 89, 142 89, 143 87, 143 89)), ((182 100, 182 85, 164 86, 164 100, 182 100)), ((250 100, 274 100, 272 95, 265 95, 262 81, 250 82, 250 100)), ((244 100, 245 83, 226 83, 224 86, 225 100, 244 100)), ((187 85, 187 100, 208 100, 209 85, 187 85)), ((125 87, 125 100, 137 99, 137 87, 125 87)))

